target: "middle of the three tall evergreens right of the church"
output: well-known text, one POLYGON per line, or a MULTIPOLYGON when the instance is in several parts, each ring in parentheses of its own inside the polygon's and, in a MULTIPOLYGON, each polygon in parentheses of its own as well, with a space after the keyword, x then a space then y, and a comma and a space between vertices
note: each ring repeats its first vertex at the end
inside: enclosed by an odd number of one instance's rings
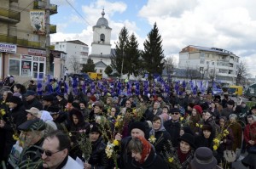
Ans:
POLYGON ((138 49, 137 38, 132 33, 129 37, 129 42, 127 43, 127 56, 129 64, 125 66, 128 73, 128 78, 131 74, 138 76, 140 70, 142 69, 142 60, 140 58, 140 50, 138 49))

